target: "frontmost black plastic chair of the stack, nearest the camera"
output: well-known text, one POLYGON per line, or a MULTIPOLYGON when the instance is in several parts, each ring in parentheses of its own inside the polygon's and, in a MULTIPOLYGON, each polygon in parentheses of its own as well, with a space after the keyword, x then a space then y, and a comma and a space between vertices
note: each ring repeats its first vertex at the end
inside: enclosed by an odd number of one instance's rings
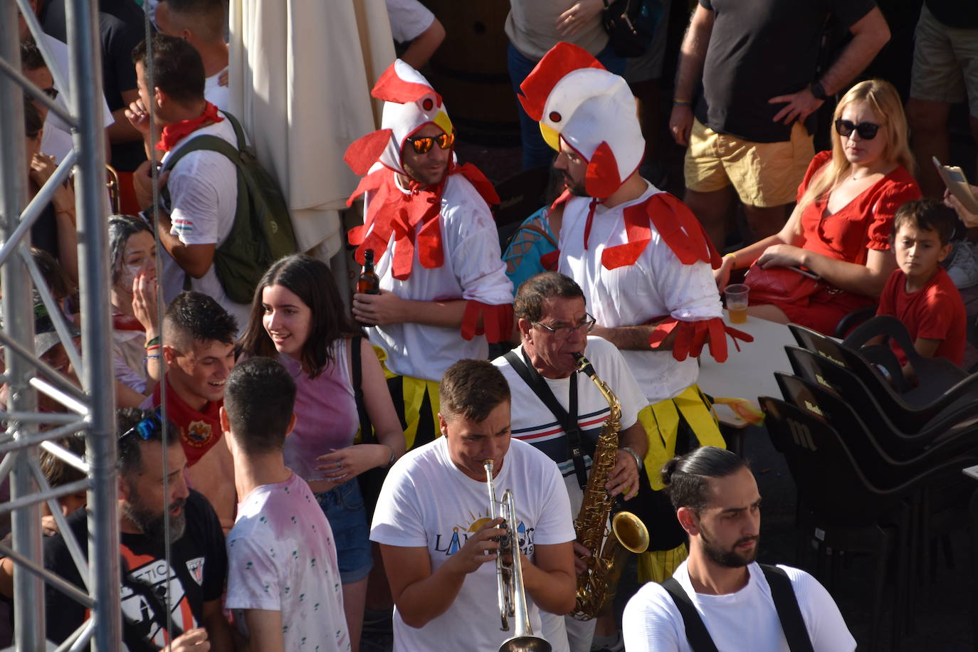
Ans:
POLYGON ((785 456, 798 490, 799 560, 813 539, 819 543, 820 561, 826 547, 875 555, 869 650, 880 644, 884 588, 889 563, 895 561, 890 649, 898 649, 910 613, 908 587, 912 576, 907 568, 919 541, 912 505, 919 503, 922 488, 934 478, 959 473, 974 457, 944 461, 901 484, 879 489, 867 479, 843 438, 825 419, 772 397, 758 400, 772 443, 785 456))

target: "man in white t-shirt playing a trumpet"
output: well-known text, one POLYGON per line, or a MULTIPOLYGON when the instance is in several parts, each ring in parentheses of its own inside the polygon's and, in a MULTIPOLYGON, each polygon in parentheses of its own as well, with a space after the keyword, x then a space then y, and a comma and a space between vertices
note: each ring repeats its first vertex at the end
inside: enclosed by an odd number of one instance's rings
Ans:
MULTIPOLYGON (((485 462, 493 482, 510 489, 528 625, 540 612, 574 607, 574 528, 554 462, 510 436, 510 386, 489 362, 463 360, 439 386, 442 437, 403 456, 383 483, 371 540, 379 543, 394 598, 394 652, 496 650, 500 629, 497 539, 485 462)), ((518 616, 517 616, 518 617, 518 616)), ((518 627, 515 629, 519 629, 518 627)), ((554 652, 566 641, 552 641, 554 652)))

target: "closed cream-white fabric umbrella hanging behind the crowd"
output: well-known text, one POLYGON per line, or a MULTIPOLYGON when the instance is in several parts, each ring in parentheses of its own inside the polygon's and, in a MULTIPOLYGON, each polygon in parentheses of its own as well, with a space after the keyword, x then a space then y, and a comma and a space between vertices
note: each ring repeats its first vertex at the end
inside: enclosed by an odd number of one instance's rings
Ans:
POLYGON ((289 202, 302 251, 333 256, 359 178, 343 152, 379 125, 394 61, 384 0, 231 0, 231 112, 289 202))

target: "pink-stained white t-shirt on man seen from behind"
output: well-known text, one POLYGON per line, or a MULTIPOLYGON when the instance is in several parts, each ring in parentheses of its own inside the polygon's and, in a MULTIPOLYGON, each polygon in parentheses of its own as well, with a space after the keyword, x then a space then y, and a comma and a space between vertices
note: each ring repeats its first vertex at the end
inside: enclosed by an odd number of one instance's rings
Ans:
POLYGON ((228 533, 228 594, 224 604, 248 637, 244 609, 282 612, 286 650, 350 649, 333 530, 309 485, 262 485, 238 503, 228 533))

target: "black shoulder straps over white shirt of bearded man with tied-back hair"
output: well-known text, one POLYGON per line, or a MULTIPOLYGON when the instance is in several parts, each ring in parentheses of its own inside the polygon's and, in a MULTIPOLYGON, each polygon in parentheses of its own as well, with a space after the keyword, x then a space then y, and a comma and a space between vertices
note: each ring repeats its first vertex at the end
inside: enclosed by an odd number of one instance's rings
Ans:
MULTIPOLYGON (((815 648, 812 647, 812 639, 805 627, 805 619, 802 618, 798 596, 791 586, 791 580, 784 570, 777 566, 769 564, 758 564, 758 566, 761 567, 768 586, 771 587, 771 597, 778 610, 778 621, 781 623, 781 630, 784 631, 788 649, 791 652, 814 652, 815 648)), ((703 619, 699 617, 699 612, 696 611, 683 586, 675 578, 669 578, 661 584, 669 591, 676 608, 683 616, 686 638, 693 652, 717 652, 717 646, 713 643, 710 632, 706 630, 703 619)))

